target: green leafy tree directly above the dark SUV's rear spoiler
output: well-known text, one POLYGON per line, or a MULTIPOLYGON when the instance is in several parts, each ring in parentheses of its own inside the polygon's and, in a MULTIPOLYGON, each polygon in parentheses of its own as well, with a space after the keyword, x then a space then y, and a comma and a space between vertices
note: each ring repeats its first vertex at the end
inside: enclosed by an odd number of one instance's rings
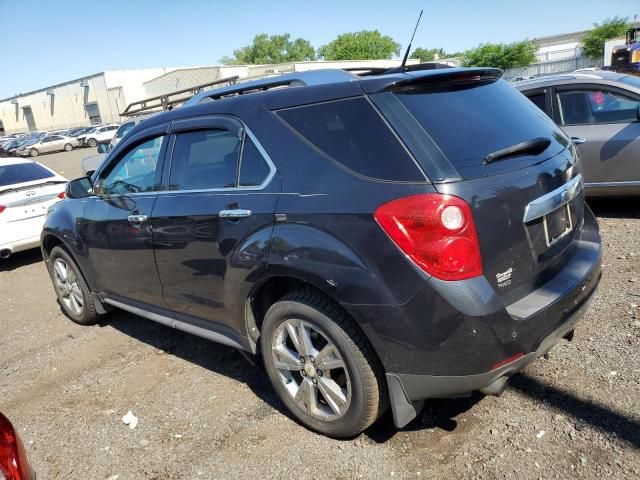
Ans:
POLYGON ((465 67, 526 67, 536 60, 538 46, 528 40, 514 43, 483 43, 462 54, 465 67))

